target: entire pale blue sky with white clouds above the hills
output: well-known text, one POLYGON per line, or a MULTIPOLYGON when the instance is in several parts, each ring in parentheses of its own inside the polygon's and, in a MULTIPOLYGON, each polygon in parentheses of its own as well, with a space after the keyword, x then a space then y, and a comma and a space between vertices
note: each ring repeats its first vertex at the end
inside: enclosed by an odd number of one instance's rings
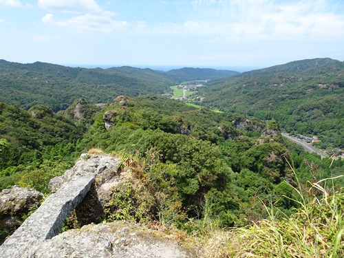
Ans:
POLYGON ((344 1, 0 0, 0 59, 268 67, 344 60, 344 1))

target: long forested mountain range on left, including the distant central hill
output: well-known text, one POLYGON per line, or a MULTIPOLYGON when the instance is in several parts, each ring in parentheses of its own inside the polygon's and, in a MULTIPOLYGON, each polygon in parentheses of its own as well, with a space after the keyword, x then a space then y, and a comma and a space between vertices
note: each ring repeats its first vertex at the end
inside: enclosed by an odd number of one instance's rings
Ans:
POLYGON ((165 73, 128 66, 87 69, 1 60, 0 102, 24 109, 37 104, 46 105, 58 111, 69 107, 77 98, 85 98, 92 103, 109 103, 118 95, 133 97, 170 93, 169 87, 181 80, 223 78, 235 74, 215 69, 192 70, 195 72, 187 74, 184 69, 165 73))

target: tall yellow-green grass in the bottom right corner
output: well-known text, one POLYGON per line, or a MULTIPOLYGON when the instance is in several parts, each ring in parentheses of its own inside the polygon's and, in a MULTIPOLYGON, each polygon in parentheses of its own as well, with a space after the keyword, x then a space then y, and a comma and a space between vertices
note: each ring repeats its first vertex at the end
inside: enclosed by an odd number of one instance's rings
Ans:
POLYGON ((291 186, 300 208, 288 218, 278 219, 272 206, 270 217, 253 226, 214 230, 204 257, 344 257, 344 194, 325 187, 341 177, 308 182, 306 191, 291 186))

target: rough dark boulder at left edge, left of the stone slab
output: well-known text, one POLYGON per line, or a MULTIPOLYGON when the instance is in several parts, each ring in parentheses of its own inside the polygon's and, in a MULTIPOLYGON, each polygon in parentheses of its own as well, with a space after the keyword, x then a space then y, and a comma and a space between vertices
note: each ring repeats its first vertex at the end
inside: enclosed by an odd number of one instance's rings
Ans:
POLYGON ((43 199, 43 193, 34 189, 13 186, 0 193, 0 230, 12 233, 23 222, 23 215, 43 199))

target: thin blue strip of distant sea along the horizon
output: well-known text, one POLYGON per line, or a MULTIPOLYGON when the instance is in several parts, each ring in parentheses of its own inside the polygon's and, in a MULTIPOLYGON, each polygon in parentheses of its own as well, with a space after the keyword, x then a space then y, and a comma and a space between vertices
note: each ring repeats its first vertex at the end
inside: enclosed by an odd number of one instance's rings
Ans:
POLYGON ((218 70, 230 70, 230 71, 236 71, 236 72, 248 72, 248 71, 252 71, 255 69, 261 69, 264 67, 225 67, 225 66, 217 66, 217 67, 213 67, 213 66, 197 66, 197 65, 78 65, 78 64, 61 64, 61 65, 65 65, 65 66, 69 66, 69 67, 83 67, 83 68, 103 68, 103 69, 107 69, 107 68, 111 68, 111 67, 121 67, 121 66, 131 66, 131 67, 136 67, 136 68, 149 68, 149 69, 153 69, 156 71, 162 71, 162 72, 167 72, 170 71, 171 69, 180 69, 183 67, 193 67, 193 68, 212 68, 212 69, 218 69, 218 70))

